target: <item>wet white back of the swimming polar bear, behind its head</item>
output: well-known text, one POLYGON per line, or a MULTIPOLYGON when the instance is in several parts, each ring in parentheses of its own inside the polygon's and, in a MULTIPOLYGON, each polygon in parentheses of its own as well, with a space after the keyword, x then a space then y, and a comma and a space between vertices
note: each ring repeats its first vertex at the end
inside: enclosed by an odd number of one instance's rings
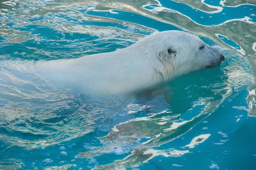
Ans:
MULTIPOLYGON (((139 55, 139 54, 138 54, 139 55)), ((162 81, 151 63, 130 53, 94 54, 78 59, 39 61, 39 74, 67 88, 86 94, 120 94, 140 90, 162 81)))

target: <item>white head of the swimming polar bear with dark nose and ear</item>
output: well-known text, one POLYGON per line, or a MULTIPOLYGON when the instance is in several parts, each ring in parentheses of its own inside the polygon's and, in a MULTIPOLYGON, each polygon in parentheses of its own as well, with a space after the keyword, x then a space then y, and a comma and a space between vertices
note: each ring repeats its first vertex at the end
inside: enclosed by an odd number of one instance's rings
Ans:
POLYGON ((154 69, 165 81, 192 71, 216 67, 224 60, 218 50, 184 31, 156 32, 136 44, 144 47, 141 50, 154 60, 154 69))

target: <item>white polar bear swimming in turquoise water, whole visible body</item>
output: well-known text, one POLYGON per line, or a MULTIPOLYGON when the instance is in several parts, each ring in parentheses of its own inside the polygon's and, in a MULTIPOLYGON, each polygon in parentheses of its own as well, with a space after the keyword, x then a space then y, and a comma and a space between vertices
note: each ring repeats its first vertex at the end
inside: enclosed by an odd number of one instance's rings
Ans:
POLYGON ((149 89, 182 74, 216 67, 223 60, 223 54, 195 35, 163 31, 113 52, 34 65, 38 74, 64 87, 113 95, 149 89))

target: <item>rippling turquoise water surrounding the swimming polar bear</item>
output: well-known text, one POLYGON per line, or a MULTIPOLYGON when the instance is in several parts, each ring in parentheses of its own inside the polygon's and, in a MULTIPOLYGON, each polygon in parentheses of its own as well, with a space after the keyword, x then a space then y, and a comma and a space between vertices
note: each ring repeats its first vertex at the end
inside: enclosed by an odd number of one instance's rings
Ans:
POLYGON ((1 1, 0 169, 254 170, 256 4, 244 1, 1 1), (8 64, 115 51, 165 30, 217 45, 224 62, 110 97, 8 64))

